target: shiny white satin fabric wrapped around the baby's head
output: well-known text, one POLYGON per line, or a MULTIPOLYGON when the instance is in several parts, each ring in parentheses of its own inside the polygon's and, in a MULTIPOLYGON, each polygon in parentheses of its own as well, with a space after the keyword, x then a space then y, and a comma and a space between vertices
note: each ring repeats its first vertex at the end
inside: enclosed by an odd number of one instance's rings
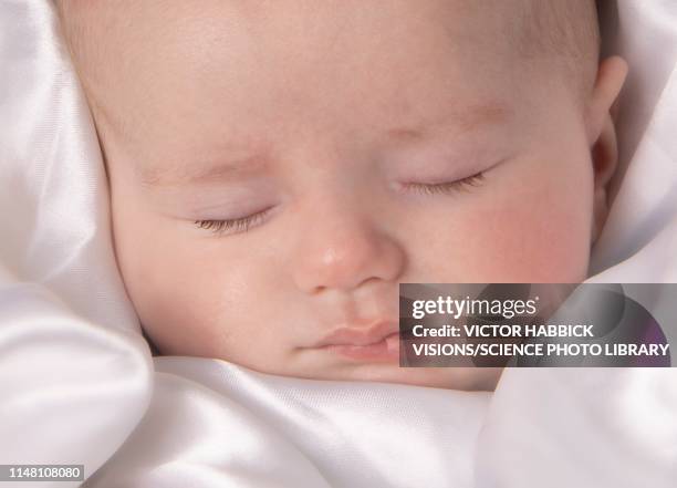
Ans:
MULTIPOLYGON (((591 281, 677 281, 677 3, 618 17, 627 170, 591 281)), ((97 488, 677 486, 677 370, 509 370, 490 394, 150 357, 48 0, 0 0, 0 464, 97 488)))

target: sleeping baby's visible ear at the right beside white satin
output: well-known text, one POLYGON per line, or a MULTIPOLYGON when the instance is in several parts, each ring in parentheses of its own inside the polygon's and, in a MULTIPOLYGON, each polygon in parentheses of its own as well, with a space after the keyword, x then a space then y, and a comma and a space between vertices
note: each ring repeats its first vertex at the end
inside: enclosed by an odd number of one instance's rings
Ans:
POLYGON ((627 63, 618 56, 600 64, 593 92, 585 110, 585 129, 595 176, 593 242, 608 215, 608 184, 618 166, 618 145, 612 107, 627 76, 627 63))

